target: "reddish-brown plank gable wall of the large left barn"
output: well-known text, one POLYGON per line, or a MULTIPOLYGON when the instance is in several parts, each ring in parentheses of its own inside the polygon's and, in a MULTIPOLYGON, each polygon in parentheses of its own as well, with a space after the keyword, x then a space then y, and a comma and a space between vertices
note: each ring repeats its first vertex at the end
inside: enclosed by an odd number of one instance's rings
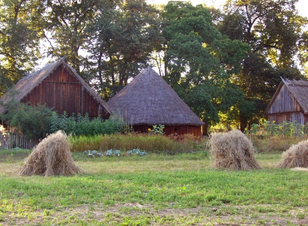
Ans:
POLYGON ((68 115, 72 113, 85 115, 88 113, 90 117, 98 115, 102 115, 104 118, 108 117, 108 113, 99 102, 63 65, 57 67, 21 102, 31 102, 32 105, 46 104, 59 114, 66 111, 68 115))

